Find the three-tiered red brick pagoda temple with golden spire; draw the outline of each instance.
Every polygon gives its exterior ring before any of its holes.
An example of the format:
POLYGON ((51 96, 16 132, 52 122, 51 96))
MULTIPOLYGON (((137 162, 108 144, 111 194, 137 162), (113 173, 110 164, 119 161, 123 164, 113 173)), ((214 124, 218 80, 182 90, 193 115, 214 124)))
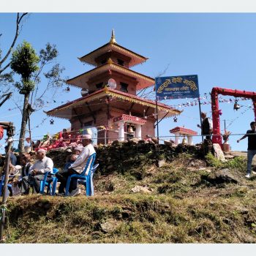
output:
POLYGON ((110 42, 78 58, 94 66, 67 80, 70 86, 79 87, 82 97, 49 110, 48 116, 69 119, 72 130, 97 128, 97 143, 109 143, 127 138, 154 136, 158 118, 181 113, 168 105, 138 97, 142 89, 154 86, 154 78, 130 69, 148 58, 128 50, 116 42, 114 31, 110 42))

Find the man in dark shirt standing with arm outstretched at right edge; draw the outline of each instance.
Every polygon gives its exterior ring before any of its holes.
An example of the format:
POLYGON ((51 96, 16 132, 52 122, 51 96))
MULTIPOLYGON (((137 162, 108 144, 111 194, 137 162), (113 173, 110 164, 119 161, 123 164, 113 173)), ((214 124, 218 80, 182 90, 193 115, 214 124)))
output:
POLYGON ((249 129, 246 132, 246 135, 244 135, 242 138, 237 140, 237 143, 240 142, 240 140, 244 140, 244 138, 248 137, 248 148, 247 148, 247 173, 246 178, 249 178, 252 173, 252 159, 256 154, 256 122, 252 121, 251 129, 249 129))

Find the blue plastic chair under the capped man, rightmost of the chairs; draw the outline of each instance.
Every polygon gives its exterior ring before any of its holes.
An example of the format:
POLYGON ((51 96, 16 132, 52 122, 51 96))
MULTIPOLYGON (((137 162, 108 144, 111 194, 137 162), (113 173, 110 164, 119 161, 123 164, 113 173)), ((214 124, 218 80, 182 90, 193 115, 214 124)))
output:
POLYGON ((72 174, 67 178, 67 185, 66 185, 66 191, 65 196, 69 195, 69 185, 71 178, 78 178, 79 180, 85 180, 86 181, 86 196, 91 195, 91 169, 94 165, 94 161, 96 158, 96 153, 91 154, 89 159, 86 162, 86 167, 83 169, 83 173, 80 174, 72 174))

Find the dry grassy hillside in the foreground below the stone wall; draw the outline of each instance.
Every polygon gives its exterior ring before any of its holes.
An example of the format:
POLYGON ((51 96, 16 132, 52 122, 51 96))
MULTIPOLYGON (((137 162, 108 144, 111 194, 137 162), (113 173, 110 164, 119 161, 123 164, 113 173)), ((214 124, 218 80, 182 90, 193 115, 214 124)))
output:
POLYGON ((255 243, 256 178, 245 160, 150 154, 98 172, 95 196, 9 198, 7 243, 255 243), (162 157, 166 159, 165 156, 162 157))

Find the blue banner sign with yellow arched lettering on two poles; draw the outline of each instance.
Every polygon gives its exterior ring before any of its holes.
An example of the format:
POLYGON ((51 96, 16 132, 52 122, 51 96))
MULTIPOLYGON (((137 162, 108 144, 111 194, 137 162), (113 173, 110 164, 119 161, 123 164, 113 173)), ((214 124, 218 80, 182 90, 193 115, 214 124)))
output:
POLYGON ((197 75, 159 77, 156 80, 157 99, 199 98, 197 75))

